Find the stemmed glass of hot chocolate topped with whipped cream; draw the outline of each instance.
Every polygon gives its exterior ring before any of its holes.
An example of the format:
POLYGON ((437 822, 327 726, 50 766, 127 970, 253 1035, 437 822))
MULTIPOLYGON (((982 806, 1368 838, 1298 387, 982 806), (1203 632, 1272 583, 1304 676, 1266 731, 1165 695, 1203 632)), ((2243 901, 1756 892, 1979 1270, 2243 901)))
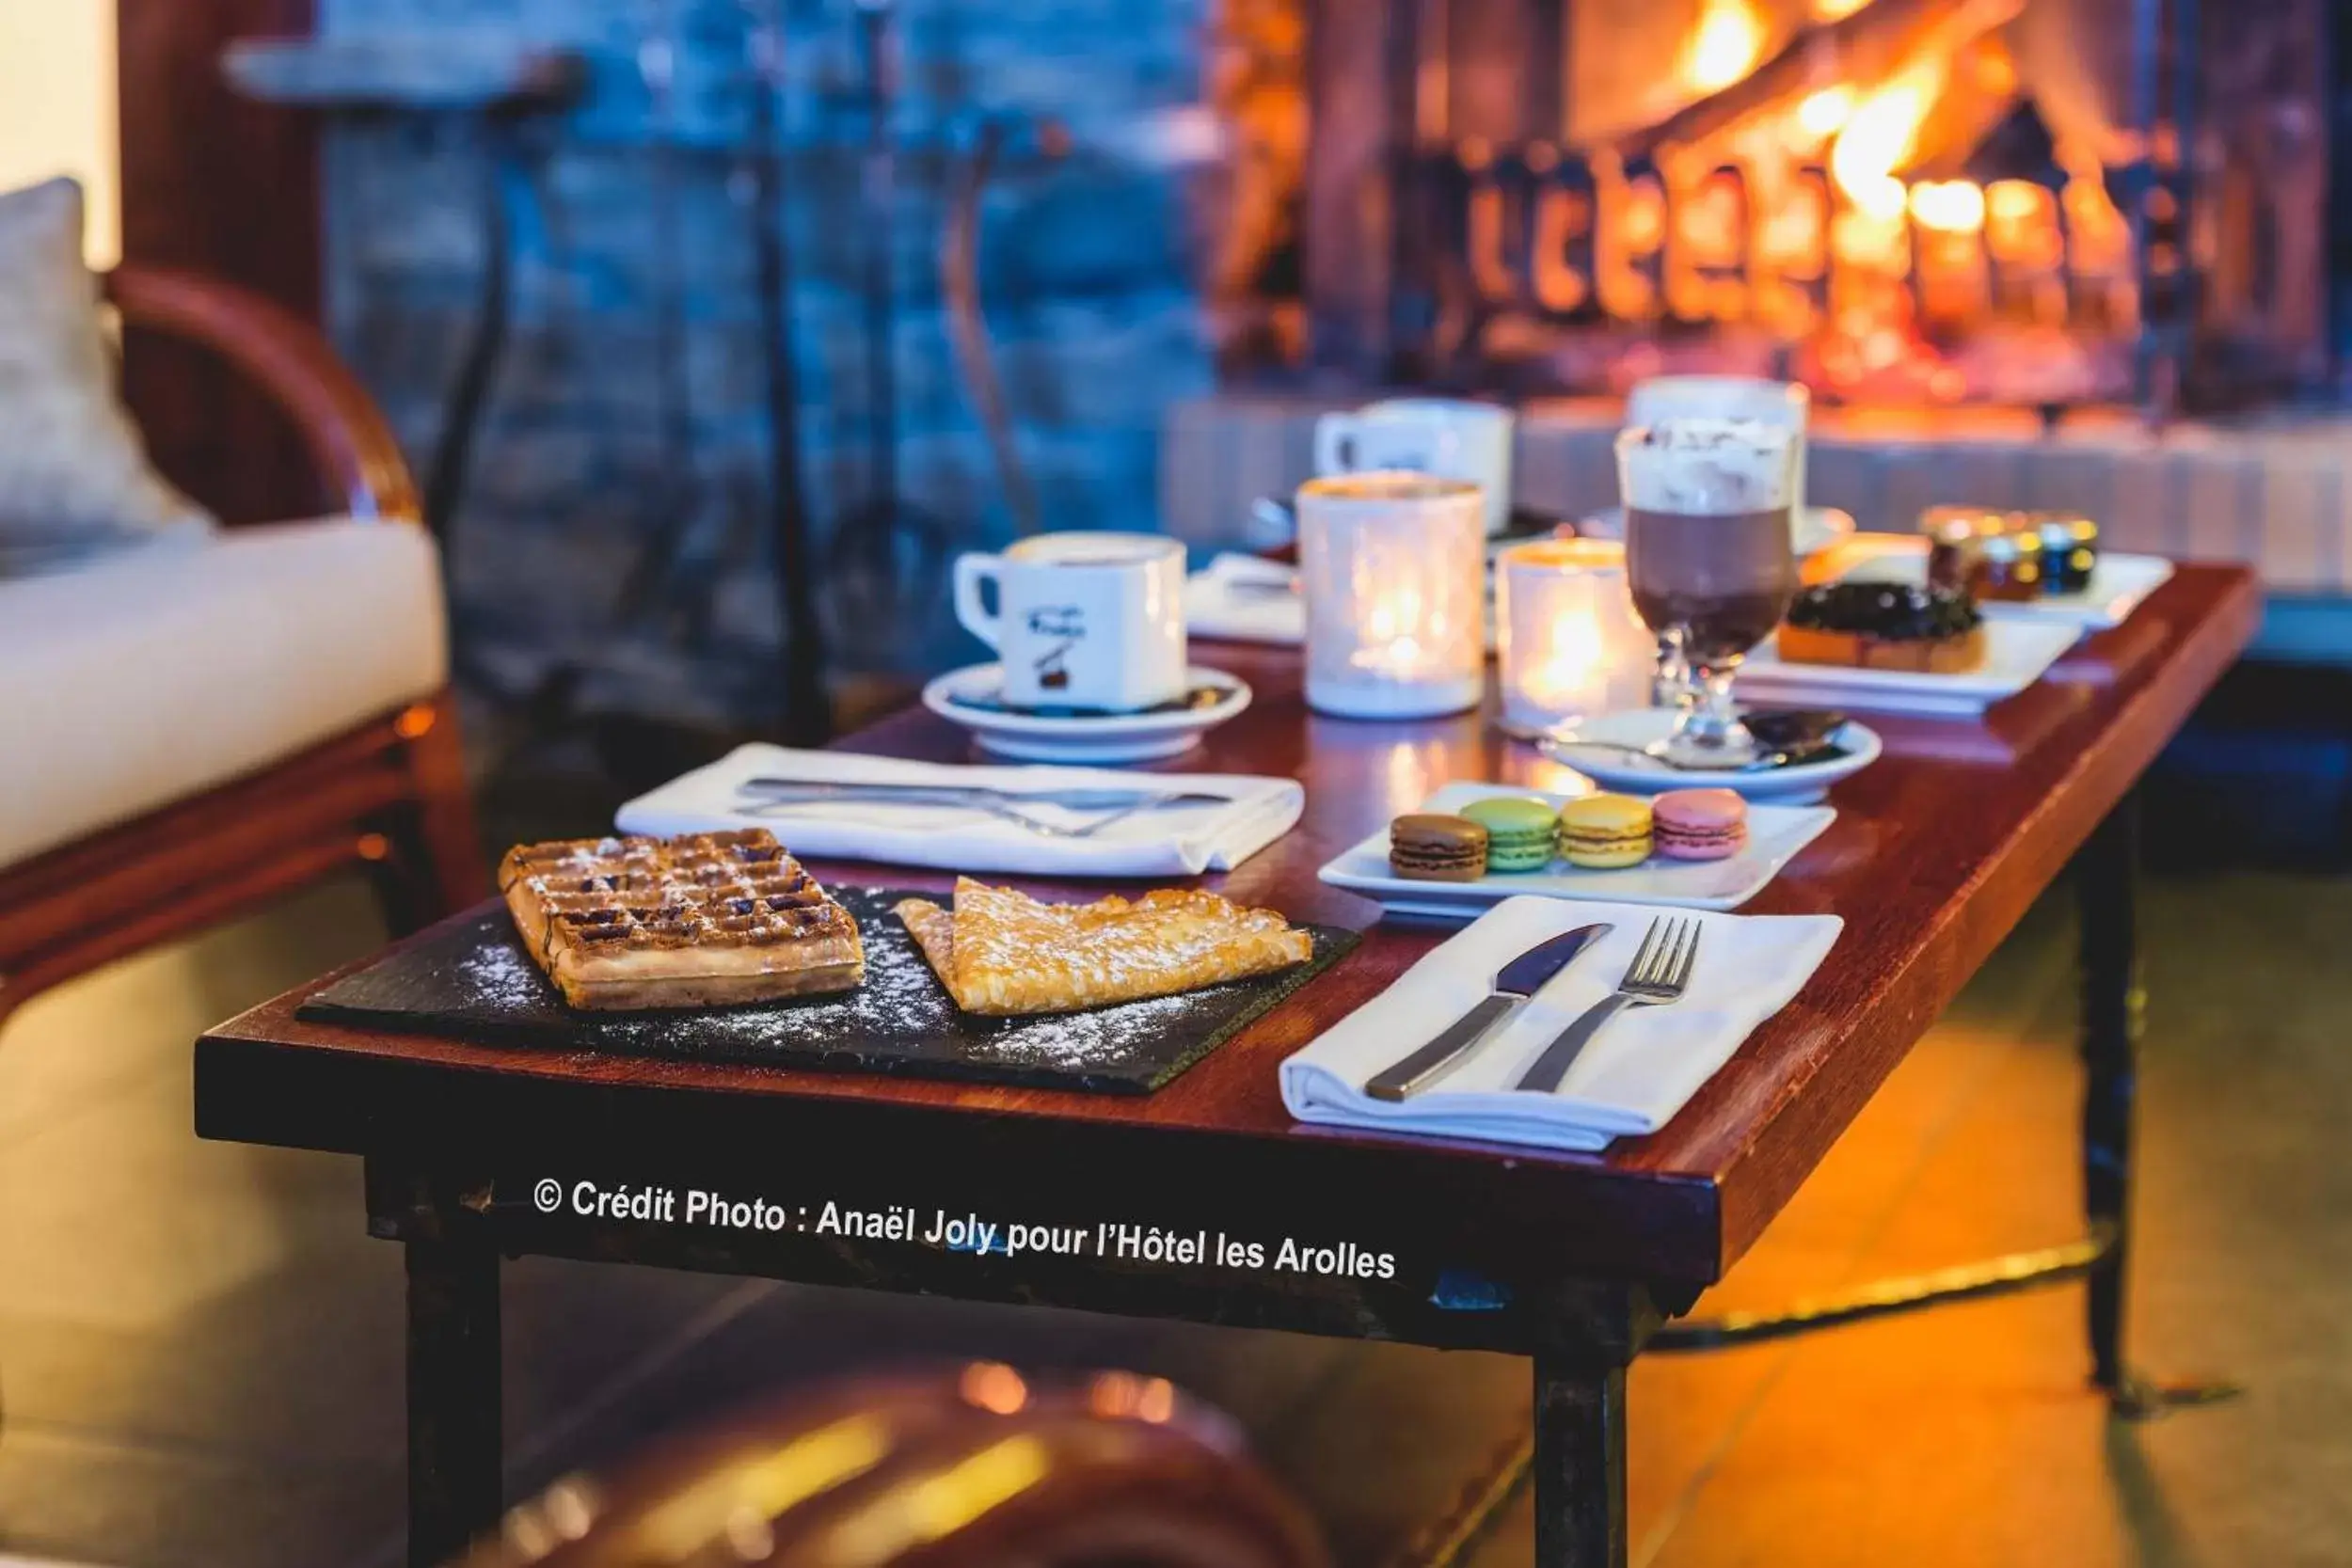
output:
POLYGON ((1797 595, 1799 449, 1795 430, 1755 418, 1661 418, 1618 435, 1632 602, 1698 682, 1663 745, 1682 766, 1736 769, 1759 755, 1731 677, 1797 595))

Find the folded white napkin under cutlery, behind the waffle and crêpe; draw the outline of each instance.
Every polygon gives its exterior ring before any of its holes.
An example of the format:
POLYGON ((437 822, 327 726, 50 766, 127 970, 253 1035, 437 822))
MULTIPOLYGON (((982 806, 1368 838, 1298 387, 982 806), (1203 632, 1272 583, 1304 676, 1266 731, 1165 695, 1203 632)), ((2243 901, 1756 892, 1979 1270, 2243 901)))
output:
MULTIPOLYGON (((1305 790, 1294 778, 1242 773, 1117 773, 1061 766, 950 766, 856 752, 739 745, 706 769, 673 778, 621 806, 621 832, 715 832, 769 827, 795 856, 936 865, 1028 877, 1195 877, 1232 870, 1298 820, 1305 790), (1138 811, 1089 839, 1051 839, 960 806, 906 802, 811 802, 755 816, 750 778, 804 783, 913 783, 988 790, 1197 790, 1223 804, 1138 811)), ((1082 827, 1101 811, 1023 806, 1047 823, 1082 827)))

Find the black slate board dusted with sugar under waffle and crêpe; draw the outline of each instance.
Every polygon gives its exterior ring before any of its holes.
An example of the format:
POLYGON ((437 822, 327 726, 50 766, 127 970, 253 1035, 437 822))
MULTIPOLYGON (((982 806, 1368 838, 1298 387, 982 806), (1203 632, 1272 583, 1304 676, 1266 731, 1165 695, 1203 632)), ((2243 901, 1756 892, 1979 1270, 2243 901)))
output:
POLYGON ((564 1006, 506 910, 343 976, 301 1018, 501 1046, 760 1063, 929 1079, 1150 1093, 1355 947, 1305 926, 1312 957, 1282 973, 1054 1018, 974 1018, 955 1006, 891 905, 910 893, 833 889, 866 936, 866 985, 729 1009, 588 1013, 564 1006))

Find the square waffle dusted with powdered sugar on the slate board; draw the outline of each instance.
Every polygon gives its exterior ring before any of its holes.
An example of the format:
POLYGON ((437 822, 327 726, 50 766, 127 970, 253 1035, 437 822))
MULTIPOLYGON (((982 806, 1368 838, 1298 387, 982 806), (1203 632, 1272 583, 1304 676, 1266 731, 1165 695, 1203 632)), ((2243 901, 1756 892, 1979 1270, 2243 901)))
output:
POLYGON ((499 891, 581 1009, 769 1001, 866 978, 858 922, 764 827, 517 844, 499 891))

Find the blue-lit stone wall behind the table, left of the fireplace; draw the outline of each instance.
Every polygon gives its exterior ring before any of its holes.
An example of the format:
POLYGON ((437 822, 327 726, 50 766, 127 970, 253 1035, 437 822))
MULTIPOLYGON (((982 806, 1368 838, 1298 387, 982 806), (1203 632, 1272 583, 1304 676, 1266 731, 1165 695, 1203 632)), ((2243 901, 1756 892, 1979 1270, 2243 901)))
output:
MULTIPOLYGON (((863 550, 856 12, 788 0, 793 322, 835 672, 917 672, 978 646, 941 578, 1011 517, 957 378, 936 275, 941 150, 978 110, 1047 115, 1075 155, 1018 160, 983 226, 1000 367, 1047 527, 1155 527, 1157 425, 1211 383, 1197 174, 1127 155, 1138 118, 1202 96, 1211 0, 903 0, 901 480, 924 527, 863 550), (891 562, 877 574, 861 562, 891 562)), ((506 160, 513 339, 454 520, 452 592, 477 682, 520 693, 572 668, 600 708, 757 719, 774 705, 767 421, 748 146, 757 85, 739 0, 320 0, 329 38, 456 49, 560 45, 590 89, 522 125, 506 160), (673 47, 673 92, 640 68, 673 47), (666 303, 668 301, 668 303, 666 303), (673 313, 675 336, 663 331, 673 313), (675 353, 666 353, 666 343, 675 353), (647 567, 649 541, 675 559, 647 567), (630 604, 635 592, 635 607, 630 604)), ((336 120, 327 146, 329 322, 423 468, 475 320, 487 190, 477 125, 336 120)))

